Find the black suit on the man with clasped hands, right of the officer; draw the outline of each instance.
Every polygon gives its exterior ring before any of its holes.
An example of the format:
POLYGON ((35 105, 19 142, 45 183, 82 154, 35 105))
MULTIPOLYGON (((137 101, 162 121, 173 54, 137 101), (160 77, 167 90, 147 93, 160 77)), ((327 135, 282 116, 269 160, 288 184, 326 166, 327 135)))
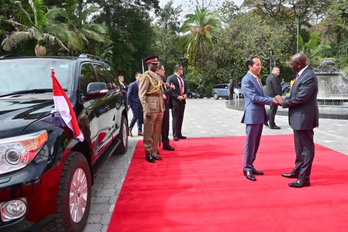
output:
MULTIPOLYGON (((188 95, 188 89, 186 85, 186 81, 183 77, 181 77, 182 81, 184 82, 183 87, 183 95, 188 95)), ((173 138, 179 138, 183 136, 181 134, 181 128, 183 126, 183 120, 184 120, 184 112, 185 112, 185 104, 186 100, 178 100, 178 97, 180 96, 180 83, 178 76, 176 74, 173 74, 167 78, 168 83, 172 83, 175 85, 175 90, 170 95, 170 101, 171 101, 171 116, 172 116, 172 129, 173 129, 173 138)))

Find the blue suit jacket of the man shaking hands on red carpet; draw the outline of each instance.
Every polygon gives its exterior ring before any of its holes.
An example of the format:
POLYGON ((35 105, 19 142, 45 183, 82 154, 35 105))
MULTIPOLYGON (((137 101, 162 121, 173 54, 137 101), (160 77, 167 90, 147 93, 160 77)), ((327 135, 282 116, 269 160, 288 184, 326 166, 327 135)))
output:
MULTIPOLYGON (((262 86, 261 80, 259 79, 262 86)), ((273 98, 265 96, 256 79, 247 73, 242 79, 242 92, 245 98, 242 123, 261 124, 268 121, 265 104, 272 105, 273 98)))

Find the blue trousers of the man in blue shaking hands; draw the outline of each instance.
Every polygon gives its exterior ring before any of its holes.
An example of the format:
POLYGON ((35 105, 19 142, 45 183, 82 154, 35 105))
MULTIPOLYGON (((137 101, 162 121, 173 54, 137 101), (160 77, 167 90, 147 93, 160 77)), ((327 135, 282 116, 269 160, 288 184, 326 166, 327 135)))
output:
POLYGON ((247 124, 245 132, 247 140, 245 141, 243 170, 251 171, 256 159, 256 153, 259 149, 263 124, 247 124))

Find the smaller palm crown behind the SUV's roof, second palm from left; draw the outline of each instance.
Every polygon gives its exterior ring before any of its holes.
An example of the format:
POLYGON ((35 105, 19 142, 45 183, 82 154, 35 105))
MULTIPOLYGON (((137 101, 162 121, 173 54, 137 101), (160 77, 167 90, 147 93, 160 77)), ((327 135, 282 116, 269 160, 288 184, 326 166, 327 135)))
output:
MULTIPOLYGON (((95 40, 97 42, 104 42, 105 35, 108 33, 108 27, 105 23, 86 23, 91 14, 99 12, 100 8, 90 6, 85 10, 82 6, 72 8, 72 11, 68 13, 70 22, 68 23, 71 30, 75 32, 86 44, 89 44, 89 40, 95 40)), ((73 44, 69 43, 68 47, 71 51, 76 50, 73 44)))

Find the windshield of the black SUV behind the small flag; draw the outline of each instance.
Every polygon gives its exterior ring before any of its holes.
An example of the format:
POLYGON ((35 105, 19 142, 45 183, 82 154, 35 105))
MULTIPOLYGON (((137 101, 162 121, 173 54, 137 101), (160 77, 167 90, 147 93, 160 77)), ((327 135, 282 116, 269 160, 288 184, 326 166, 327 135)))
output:
POLYGON ((73 61, 62 59, 0 61, 0 96, 23 90, 52 89, 50 68, 54 69, 54 76, 62 88, 69 90, 72 66, 73 61))

